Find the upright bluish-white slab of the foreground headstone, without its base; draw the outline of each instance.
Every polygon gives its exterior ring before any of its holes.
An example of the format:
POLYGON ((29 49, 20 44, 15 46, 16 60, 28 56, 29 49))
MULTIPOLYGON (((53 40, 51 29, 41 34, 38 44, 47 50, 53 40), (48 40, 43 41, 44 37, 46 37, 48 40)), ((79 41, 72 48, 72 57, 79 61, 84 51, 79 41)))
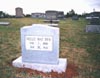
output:
POLYGON ((58 64, 59 28, 33 24, 21 28, 22 61, 58 64))

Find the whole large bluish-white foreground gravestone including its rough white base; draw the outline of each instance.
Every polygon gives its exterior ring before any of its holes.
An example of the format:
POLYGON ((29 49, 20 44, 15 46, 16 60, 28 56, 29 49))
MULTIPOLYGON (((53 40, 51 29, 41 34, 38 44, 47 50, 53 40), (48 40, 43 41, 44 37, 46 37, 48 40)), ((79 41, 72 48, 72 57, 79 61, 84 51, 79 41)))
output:
POLYGON ((43 72, 65 72, 67 60, 59 58, 59 28, 33 24, 21 28, 22 56, 13 66, 43 72))

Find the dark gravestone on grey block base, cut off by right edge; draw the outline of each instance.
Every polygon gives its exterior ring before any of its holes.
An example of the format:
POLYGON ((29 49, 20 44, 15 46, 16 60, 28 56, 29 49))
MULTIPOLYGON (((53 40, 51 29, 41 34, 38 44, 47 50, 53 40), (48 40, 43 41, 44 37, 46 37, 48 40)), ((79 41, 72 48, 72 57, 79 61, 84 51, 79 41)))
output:
POLYGON ((86 25, 86 32, 100 33, 100 18, 92 17, 89 25, 86 25))

